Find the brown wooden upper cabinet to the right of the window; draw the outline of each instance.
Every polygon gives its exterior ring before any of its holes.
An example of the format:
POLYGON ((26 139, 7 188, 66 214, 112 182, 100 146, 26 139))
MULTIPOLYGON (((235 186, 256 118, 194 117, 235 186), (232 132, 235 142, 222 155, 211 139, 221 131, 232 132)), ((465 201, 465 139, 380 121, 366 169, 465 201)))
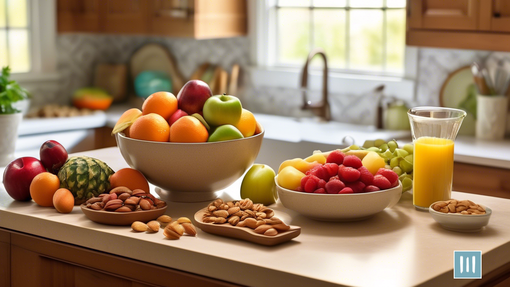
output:
POLYGON ((408 0, 406 43, 510 51, 510 0, 408 0))

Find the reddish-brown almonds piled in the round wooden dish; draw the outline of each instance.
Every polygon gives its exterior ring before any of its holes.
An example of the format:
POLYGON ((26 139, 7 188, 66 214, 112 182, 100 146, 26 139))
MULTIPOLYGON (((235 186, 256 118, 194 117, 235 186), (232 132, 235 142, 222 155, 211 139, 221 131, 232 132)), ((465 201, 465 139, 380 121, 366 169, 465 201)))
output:
POLYGON ((153 210, 166 206, 166 202, 145 193, 141 189, 130 190, 119 186, 113 188, 109 194, 101 194, 87 202, 87 208, 113 212, 131 212, 140 210, 153 210))

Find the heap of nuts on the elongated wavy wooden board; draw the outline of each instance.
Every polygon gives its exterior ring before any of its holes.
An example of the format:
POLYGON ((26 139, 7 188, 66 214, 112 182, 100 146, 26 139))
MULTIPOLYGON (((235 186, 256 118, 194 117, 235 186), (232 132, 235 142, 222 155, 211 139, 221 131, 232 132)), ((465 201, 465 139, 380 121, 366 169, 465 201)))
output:
POLYGON ((207 206, 203 222, 212 224, 227 223, 237 227, 249 227, 254 232, 274 236, 278 232, 290 229, 280 219, 274 217, 274 211, 263 204, 254 204, 250 199, 223 202, 217 199, 207 206))

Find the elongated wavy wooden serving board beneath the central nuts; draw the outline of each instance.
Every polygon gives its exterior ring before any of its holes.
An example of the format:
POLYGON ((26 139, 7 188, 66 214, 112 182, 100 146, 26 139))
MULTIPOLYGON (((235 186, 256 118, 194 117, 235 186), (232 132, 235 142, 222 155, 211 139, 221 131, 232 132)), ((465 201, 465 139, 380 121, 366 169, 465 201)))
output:
POLYGON ((237 227, 232 226, 230 223, 223 224, 212 224, 205 223, 202 221, 203 215, 206 213, 207 207, 198 210, 195 213, 195 226, 200 228, 202 231, 207 233, 216 234, 220 236, 233 237, 240 240, 245 240, 261 245, 273 246, 280 243, 284 243, 292 240, 301 233, 301 227, 290 226, 287 231, 280 231, 275 236, 267 236, 264 234, 258 234, 253 229, 248 227, 237 227))

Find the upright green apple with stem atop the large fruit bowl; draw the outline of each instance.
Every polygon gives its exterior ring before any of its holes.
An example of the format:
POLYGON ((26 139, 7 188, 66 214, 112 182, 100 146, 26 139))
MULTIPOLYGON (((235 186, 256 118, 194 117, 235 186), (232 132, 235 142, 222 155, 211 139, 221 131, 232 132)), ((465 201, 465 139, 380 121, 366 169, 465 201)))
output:
POLYGON ((241 101, 233 95, 215 95, 203 104, 203 118, 210 126, 234 126, 239 122, 242 111, 241 101))

